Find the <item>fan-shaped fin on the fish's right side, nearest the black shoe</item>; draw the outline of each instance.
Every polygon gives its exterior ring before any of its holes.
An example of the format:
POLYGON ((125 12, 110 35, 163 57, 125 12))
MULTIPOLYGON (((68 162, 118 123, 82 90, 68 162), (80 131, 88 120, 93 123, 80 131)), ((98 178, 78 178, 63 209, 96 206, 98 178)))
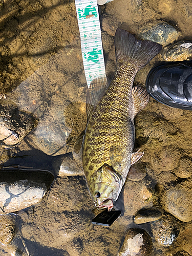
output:
POLYGON ((134 117, 145 108, 148 100, 150 99, 150 94, 142 87, 135 86, 132 89, 133 107, 134 107, 134 117))

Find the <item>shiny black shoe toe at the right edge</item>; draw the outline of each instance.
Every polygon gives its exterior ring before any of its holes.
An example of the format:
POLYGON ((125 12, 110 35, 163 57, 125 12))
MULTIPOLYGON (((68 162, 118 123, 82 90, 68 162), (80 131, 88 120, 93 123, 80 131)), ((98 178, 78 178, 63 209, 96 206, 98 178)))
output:
POLYGON ((165 105, 192 110, 192 62, 168 62, 153 68, 147 76, 146 89, 165 105))

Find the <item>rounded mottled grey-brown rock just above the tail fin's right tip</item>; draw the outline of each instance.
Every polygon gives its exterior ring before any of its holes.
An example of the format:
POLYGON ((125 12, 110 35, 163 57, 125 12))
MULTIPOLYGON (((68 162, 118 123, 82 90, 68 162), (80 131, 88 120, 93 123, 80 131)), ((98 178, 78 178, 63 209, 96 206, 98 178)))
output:
POLYGON ((140 28, 137 37, 158 42, 158 44, 162 46, 167 46, 177 40, 179 35, 180 33, 172 25, 158 21, 156 24, 147 23, 143 25, 140 28))

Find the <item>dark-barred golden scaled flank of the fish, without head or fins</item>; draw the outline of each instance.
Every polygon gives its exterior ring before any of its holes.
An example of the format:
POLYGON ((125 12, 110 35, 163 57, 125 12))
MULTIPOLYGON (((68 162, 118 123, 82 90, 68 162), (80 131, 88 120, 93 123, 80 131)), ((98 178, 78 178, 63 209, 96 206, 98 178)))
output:
MULTIPOLYGON (((133 138, 133 135, 131 135, 132 129, 129 131, 130 125, 127 125, 127 110, 133 108, 128 99, 131 97, 133 77, 137 73, 134 64, 130 65, 130 62, 126 61, 118 65, 108 92, 106 92, 91 117, 94 123, 88 123, 84 138, 84 152, 87 152, 85 165, 87 165, 86 169, 88 170, 95 172, 104 163, 111 164, 110 147, 112 143, 117 144, 118 147, 122 145, 123 153, 125 152, 128 155, 133 150, 133 143, 132 145, 127 144, 127 141, 130 141, 131 137, 133 138), (122 74, 124 79, 119 81, 122 74), (109 102, 113 103, 109 104, 109 102), (124 136, 122 130, 127 132, 124 136), (103 145, 104 148, 101 151, 103 145), (93 152, 95 153, 94 156, 90 156, 93 152), (95 164, 93 165, 93 163, 95 164)), ((133 122, 133 117, 130 121, 133 122)), ((128 159, 126 155, 125 158, 128 159)), ((87 172, 87 179, 90 179, 91 175, 92 173, 87 172)), ((126 176, 126 174, 123 176, 126 176)))

